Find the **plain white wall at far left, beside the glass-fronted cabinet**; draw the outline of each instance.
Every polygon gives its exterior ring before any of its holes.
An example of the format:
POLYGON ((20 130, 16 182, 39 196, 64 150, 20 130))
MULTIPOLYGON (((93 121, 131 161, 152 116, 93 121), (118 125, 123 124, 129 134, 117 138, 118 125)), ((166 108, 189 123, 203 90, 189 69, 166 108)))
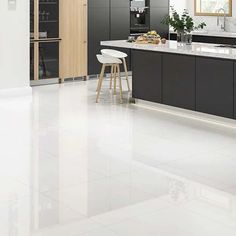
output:
POLYGON ((0 90, 29 87, 29 0, 0 0, 0 90))

